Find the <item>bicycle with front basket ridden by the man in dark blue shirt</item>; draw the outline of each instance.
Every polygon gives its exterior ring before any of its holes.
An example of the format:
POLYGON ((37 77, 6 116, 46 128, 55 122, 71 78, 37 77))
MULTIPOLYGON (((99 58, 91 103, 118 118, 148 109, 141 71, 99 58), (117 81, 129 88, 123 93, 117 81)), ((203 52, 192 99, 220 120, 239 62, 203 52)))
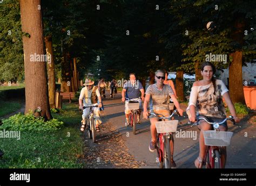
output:
POLYGON ((125 98, 128 103, 128 109, 131 110, 131 114, 129 117, 129 124, 125 124, 125 126, 131 125, 133 128, 133 134, 136 135, 136 124, 137 124, 137 116, 139 114, 139 102, 131 101, 129 98, 125 98))

